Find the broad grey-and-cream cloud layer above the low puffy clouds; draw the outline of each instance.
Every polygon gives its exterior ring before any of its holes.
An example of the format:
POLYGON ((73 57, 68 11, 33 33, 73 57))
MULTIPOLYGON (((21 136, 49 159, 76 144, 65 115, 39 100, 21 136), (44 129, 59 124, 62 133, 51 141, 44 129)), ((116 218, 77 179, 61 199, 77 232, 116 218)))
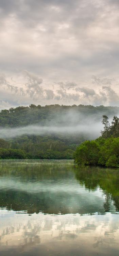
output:
POLYGON ((117 72, 115 3, 1 0, 2 70, 40 71, 42 77, 57 80, 117 72))

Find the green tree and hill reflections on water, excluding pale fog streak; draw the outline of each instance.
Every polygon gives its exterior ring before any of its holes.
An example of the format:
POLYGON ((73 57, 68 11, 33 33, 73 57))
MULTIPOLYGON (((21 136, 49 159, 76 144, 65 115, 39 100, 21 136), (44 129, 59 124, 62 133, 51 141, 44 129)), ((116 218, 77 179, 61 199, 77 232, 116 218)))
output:
MULTIPOLYGON (((69 162, 70 163, 70 162, 69 162)), ((26 211, 29 214, 43 212, 44 214, 93 214, 95 212, 105 213, 110 211, 111 202, 114 203, 116 211, 119 211, 119 171, 114 169, 77 167, 72 164, 63 164, 62 161, 57 164, 55 161, 51 164, 41 164, 37 162, 18 163, 5 162, 0 163, 0 177, 7 180, 19 181, 21 187, 2 189, 0 192, 0 207, 16 212, 26 211), (68 191, 62 190, 56 193, 50 191, 30 191, 32 187, 40 187, 42 182, 55 187, 57 181, 67 186, 68 191), (47 183, 48 182, 48 183, 47 183), (73 193, 73 184, 85 186, 87 191, 96 191, 102 189, 105 195, 104 204, 102 201, 96 201, 98 198, 92 194, 92 201, 88 201, 86 194, 73 193), (29 184, 29 191, 27 185, 29 184), (32 187, 31 185, 32 184, 32 187), (22 190, 20 189, 22 188, 22 190), (70 190, 71 188, 71 190, 70 190)), ((16 183, 17 184, 17 183, 16 183)), ((42 183, 43 184, 43 183, 42 183)), ((49 185, 48 185, 49 186, 49 185)), ((79 187, 79 186, 78 186, 79 187)), ((60 189, 60 186, 59 186, 60 189)), ((90 194, 91 195, 91 194, 90 194)))

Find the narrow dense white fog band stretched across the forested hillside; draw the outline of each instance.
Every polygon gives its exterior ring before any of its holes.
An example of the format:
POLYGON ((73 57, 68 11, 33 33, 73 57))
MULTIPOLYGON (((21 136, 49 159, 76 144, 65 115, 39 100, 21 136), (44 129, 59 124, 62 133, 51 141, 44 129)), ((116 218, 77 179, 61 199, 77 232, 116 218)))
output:
POLYGON ((40 126, 29 125, 17 128, 1 128, 0 138, 15 138, 23 134, 27 135, 49 135, 49 134, 87 134, 89 138, 95 139, 100 136, 100 131, 103 128, 101 123, 77 125, 77 126, 40 126))

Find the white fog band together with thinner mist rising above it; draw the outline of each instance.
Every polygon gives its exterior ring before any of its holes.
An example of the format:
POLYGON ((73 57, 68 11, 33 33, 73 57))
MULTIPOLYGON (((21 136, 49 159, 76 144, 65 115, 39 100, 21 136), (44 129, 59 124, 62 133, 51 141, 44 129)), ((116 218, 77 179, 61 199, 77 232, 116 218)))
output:
MULTIPOLYGON (((106 114, 106 113, 103 113, 106 114)), ((115 113, 114 113, 115 114, 115 113)), ((114 114, 110 113, 109 123, 112 122, 114 114)), ((27 116, 26 116, 27 117, 27 116)), ((24 116, 24 118, 26 118, 24 116)), ((62 135, 66 136, 71 134, 71 136, 81 136, 86 135, 88 139, 96 139, 101 136, 101 130, 103 130, 102 125, 102 113, 92 112, 81 113, 75 109, 65 110, 61 112, 47 113, 47 118, 39 118, 39 124, 31 124, 28 126, 20 126, 13 128, 0 128, 0 138, 9 139, 18 136, 26 135, 62 135)))

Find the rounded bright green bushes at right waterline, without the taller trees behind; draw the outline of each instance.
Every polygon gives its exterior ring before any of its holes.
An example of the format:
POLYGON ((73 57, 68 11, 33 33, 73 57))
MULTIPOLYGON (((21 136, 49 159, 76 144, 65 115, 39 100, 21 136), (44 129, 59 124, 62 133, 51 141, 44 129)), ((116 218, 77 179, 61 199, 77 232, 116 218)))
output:
POLYGON ((119 137, 86 141, 77 147, 74 159, 79 165, 119 167, 119 137))

